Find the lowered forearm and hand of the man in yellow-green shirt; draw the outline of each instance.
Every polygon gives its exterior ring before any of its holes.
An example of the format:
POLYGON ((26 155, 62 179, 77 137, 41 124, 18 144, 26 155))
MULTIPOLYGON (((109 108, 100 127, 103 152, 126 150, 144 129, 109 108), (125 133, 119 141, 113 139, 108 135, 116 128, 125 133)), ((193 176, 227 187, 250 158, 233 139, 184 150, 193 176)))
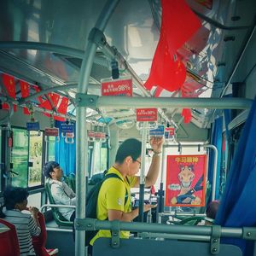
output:
MULTIPOLYGON (((150 209, 156 207, 157 205, 144 205, 144 212, 148 212, 150 209)), ((132 210, 131 212, 122 212, 119 210, 108 210, 108 220, 119 220, 131 222, 134 218, 138 216, 138 208, 132 210)))

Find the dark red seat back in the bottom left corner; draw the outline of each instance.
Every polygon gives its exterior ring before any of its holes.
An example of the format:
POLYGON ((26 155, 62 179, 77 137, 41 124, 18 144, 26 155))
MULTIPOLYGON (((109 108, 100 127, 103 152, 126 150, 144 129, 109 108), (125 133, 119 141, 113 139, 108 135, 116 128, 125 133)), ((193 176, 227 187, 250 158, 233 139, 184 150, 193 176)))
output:
POLYGON ((15 225, 0 218, 0 223, 7 226, 9 230, 0 233, 0 252, 4 256, 19 256, 20 246, 15 225))

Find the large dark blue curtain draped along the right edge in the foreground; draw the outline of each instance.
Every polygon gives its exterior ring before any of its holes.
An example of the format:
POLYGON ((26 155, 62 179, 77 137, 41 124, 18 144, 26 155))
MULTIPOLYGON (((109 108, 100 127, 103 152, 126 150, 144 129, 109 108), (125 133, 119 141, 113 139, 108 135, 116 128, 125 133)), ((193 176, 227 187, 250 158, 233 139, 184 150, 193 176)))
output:
MULTIPOLYGON (((216 224, 225 227, 256 225, 256 98, 247 117, 231 163, 216 224)), ((229 239, 241 247, 243 255, 253 255, 253 241, 229 239)))

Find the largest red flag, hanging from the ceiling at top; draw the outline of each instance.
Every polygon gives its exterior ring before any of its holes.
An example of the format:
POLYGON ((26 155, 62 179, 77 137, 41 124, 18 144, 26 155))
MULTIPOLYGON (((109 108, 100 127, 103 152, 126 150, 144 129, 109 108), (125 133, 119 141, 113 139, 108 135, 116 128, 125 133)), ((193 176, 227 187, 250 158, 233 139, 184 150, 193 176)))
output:
POLYGON ((158 85, 166 90, 179 89, 186 79, 186 68, 177 57, 180 48, 201 26, 200 20, 184 0, 161 0, 160 41, 154 53, 147 89, 158 85))

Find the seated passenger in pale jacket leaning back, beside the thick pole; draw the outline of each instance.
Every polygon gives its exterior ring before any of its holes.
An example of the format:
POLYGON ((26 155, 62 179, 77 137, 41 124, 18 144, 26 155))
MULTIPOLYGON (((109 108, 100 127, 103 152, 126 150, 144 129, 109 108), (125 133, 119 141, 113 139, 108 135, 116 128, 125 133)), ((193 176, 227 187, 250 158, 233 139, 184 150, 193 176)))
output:
MULTIPOLYGON (((55 161, 49 161, 44 165, 43 172, 47 177, 50 186, 50 192, 57 205, 76 205, 76 194, 67 183, 62 181, 63 172, 61 166, 55 161)), ((62 216, 69 221, 75 218, 75 210, 73 208, 59 208, 62 216)))

